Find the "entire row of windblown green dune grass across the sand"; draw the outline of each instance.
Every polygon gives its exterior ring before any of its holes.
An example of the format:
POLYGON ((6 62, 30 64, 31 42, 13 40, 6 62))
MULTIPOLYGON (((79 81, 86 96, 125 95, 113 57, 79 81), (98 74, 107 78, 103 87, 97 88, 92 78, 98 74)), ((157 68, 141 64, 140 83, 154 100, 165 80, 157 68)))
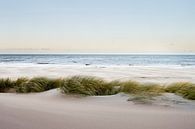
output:
POLYGON ((195 100, 195 84, 178 82, 169 85, 138 83, 135 81, 105 81, 90 76, 73 76, 63 79, 36 77, 32 79, 18 78, 17 80, 0 79, 0 92, 17 93, 43 92, 60 88, 65 94, 80 95, 113 95, 119 92, 136 96, 158 96, 162 93, 175 93, 186 99, 195 100))

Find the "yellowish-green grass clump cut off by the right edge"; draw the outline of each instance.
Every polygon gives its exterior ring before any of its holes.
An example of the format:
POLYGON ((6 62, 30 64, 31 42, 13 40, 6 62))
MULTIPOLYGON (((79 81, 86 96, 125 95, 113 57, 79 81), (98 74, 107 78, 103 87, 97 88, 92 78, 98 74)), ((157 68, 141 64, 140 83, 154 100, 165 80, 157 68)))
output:
POLYGON ((195 84, 188 82, 173 83, 166 87, 166 92, 175 93, 186 99, 195 100, 195 84))

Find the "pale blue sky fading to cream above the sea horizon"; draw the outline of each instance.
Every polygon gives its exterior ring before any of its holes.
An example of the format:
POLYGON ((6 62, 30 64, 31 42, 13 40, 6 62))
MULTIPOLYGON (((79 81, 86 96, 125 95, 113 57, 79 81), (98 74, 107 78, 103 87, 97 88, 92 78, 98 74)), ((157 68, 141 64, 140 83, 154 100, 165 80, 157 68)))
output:
POLYGON ((1 0, 0 51, 195 53, 195 1, 1 0))

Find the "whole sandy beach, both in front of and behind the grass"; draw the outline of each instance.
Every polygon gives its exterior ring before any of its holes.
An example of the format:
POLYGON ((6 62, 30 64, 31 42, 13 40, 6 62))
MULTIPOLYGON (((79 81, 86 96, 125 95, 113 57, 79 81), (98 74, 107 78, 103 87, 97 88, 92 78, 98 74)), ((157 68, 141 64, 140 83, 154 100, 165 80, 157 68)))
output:
MULTIPOLYGON (((0 64, 0 78, 66 78, 95 76, 106 81, 133 80, 170 84, 195 82, 195 67, 62 64, 0 64)), ((193 129, 195 101, 165 93, 152 104, 128 101, 131 96, 0 93, 0 129, 193 129)))

